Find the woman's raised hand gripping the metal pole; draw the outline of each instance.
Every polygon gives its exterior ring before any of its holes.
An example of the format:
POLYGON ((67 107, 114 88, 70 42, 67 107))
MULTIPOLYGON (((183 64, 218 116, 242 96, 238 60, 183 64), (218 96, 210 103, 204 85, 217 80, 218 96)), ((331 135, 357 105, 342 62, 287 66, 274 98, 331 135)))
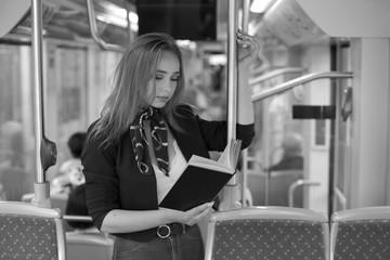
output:
POLYGON ((258 57, 260 41, 255 36, 250 36, 242 29, 237 31, 238 43, 238 66, 246 69, 258 57))

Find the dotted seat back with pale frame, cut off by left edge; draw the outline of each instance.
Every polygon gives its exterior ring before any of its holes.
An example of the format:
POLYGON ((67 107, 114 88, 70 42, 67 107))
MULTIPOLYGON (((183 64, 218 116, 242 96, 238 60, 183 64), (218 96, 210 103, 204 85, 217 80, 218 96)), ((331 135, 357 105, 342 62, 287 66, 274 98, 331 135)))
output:
POLYGON ((0 259, 65 260, 62 214, 22 202, 0 202, 0 259))

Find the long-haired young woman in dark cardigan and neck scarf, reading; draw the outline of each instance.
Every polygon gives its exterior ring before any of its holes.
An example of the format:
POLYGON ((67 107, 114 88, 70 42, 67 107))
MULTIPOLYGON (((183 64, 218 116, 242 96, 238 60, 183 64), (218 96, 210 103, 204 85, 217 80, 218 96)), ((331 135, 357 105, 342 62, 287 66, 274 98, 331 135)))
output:
MULTIPOLYGON (((248 67, 259 42, 243 31, 238 42, 236 136, 253 136, 248 67)), ((116 236, 114 259, 204 259, 198 225, 212 203, 187 211, 158 207, 192 155, 226 145, 225 121, 200 119, 179 104, 184 89, 182 54, 166 34, 136 38, 126 50, 101 118, 88 130, 81 160, 87 205, 94 224, 116 236)), ((207 184, 207 180, 205 180, 207 184)))

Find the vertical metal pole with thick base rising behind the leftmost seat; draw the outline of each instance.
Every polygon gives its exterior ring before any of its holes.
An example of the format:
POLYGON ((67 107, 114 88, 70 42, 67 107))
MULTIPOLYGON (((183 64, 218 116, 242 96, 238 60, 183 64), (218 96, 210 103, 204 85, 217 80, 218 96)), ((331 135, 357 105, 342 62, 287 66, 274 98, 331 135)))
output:
POLYGON ((31 27, 32 27, 32 78, 35 98, 35 146, 36 146, 36 178, 34 183, 35 198, 32 204, 42 207, 51 207, 49 183, 46 182, 44 171, 41 164, 41 136, 43 135, 43 108, 42 108, 42 1, 31 0, 31 27))

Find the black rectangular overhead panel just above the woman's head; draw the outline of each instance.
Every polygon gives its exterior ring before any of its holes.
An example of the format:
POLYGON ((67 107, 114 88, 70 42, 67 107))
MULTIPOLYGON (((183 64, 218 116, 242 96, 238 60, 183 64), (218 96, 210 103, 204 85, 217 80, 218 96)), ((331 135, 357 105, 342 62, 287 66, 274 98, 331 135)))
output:
POLYGON ((160 31, 176 39, 216 40, 216 0, 139 0, 139 35, 160 31))

